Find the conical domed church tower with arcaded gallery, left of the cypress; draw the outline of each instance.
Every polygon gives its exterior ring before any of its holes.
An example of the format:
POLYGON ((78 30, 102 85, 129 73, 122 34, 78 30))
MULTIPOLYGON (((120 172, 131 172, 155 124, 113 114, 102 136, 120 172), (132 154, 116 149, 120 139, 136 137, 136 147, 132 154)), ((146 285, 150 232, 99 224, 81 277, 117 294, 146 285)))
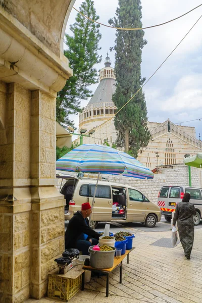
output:
POLYGON ((117 132, 113 122, 116 106, 112 102, 112 95, 116 89, 115 83, 114 69, 111 67, 111 61, 107 54, 105 67, 99 73, 99 85, 88 105, 79 114, 79 132, 82 128, 87 129, 87 131, 92 128, 96 129, 91 137, 83 137, 83 143, 102 144, 104 140, 111 143, 116 141, 117 132), (103 123, 105 124, 102 125, 103 123))

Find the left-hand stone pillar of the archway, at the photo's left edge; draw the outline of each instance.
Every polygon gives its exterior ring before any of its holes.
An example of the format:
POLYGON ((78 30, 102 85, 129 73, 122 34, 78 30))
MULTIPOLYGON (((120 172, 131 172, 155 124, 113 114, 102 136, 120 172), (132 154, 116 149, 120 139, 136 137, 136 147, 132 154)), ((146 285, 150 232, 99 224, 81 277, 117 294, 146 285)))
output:
POLYGON ((14 83, 1 88, 0 301, 13 302, 29 296, 31 92, 14 83))

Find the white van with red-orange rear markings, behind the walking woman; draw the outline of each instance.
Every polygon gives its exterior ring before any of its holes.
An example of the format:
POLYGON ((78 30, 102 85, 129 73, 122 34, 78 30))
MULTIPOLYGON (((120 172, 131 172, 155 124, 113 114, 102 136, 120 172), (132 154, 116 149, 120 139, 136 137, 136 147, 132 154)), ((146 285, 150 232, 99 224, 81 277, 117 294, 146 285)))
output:
POLYGON ((161 208, 162 215, 170 222, 172 212, 175 211, 176 205, 182 201, 184 193, 191 195, 190 203, 194 204, 196 215, 193 218, 194 224, 200 223, 202 219, 202 189, 188 186, 163 186, 158 195, 157 205, 161 208))

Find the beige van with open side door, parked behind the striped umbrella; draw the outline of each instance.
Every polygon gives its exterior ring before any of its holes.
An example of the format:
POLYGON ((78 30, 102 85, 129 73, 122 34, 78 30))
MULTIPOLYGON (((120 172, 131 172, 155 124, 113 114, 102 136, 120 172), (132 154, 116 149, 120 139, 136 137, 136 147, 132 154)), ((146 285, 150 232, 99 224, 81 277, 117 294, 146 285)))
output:
MULTIPOLYGON (((65 195, 65 220, 81 210, 81 204, 92 203, 96 179, 62 177, 67 179, 61 189, 65 195)), ((92 226, 98 222, 141 222, 146 227, 154 227, 161 220, 160 208, 150 202, 136 188, 99 180, 95 195, 95 203, 91 217, 92 226)))

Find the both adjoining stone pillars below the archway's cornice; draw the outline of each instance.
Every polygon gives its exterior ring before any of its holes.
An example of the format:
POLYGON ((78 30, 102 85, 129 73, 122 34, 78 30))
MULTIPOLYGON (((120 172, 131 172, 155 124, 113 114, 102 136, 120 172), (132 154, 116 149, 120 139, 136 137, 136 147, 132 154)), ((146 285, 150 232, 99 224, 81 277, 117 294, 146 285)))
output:
POLYGON ((64 251, 56 105, 47 93, 17 83, 1 82, 0 94, 6 108, 0 117, 0 302, 23 302, 46 293, 48 272, 64 251))

